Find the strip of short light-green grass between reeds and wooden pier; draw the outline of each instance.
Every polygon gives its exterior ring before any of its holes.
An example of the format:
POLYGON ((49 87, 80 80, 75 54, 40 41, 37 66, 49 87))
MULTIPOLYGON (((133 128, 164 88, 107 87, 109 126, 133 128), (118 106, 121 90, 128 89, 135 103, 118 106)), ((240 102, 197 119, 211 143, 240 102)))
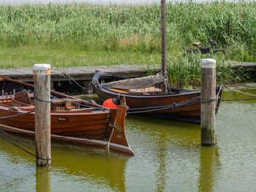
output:
POLYGON ((0 70, 1 68, 31 67, 34 64, 50 64, 55 67, 118 64, 151 66, 160 62, 160 55, 156 53, 83 50, 77 47, 0 47, 0 70))

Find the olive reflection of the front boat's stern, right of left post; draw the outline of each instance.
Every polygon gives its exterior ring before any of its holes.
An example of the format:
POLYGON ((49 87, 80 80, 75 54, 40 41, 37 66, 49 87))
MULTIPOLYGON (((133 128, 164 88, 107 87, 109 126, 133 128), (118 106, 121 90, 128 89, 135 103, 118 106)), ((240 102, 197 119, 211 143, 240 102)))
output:
POLYGON ((125 191, 124 173, 129 156, 108 153, 97 147, 56 145, 56 149, 52 166, 58 174, 77 176, 74 179, 111 191, 125 191))

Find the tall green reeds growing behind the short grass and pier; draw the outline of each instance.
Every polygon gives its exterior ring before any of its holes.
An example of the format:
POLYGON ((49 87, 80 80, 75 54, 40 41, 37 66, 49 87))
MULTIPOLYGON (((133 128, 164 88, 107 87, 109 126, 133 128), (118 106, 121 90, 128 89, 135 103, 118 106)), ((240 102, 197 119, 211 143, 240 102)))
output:
MULTIPOLYGON (((0 47, 75 47, 139 53, 161 52, 158 5, 90 4, 0 7, 0 47)), ((170 79, 198 82, 198 58, 182 57, 182 47, 211 38, 233 61, 256 61, 256 3, 167 4, 170 79)), ((0 58, 1 59, 1 58, 0 58)), ((96 58, 97 59, 97 58, 96 58)))

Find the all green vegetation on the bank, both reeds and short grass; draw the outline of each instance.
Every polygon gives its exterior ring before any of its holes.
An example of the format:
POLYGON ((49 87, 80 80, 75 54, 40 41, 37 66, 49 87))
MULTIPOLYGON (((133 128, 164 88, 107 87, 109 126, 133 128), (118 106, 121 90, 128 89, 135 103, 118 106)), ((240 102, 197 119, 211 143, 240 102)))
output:
MULTIPOLYGON (((161 62, 159 5, 89 4, 0 7, 1 68, 161 62)), ((256 3, 167 4, 167 69, 173 85, 197 85, 200 55, 182 47, 207 38, 226 50, 230 61, 256 61, 256 3)), ((206 55, 206 57, 209 55, 206 55)), ((217 58, 219 82, 246 79, 217 58), (224 72, 225 71, 225 72, 224 72)))

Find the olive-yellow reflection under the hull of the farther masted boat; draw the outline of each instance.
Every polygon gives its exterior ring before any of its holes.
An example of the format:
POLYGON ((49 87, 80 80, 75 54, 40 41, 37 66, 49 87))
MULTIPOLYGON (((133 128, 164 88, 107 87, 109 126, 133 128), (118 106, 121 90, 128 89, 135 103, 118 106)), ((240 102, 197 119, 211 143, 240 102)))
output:
POLYGON ((165 145, 162 142, 171 142, 182 147, 200 145, 200 124, 197 123, 129 115, 127 127, 129 131, 135 130, 137 134, 143 135, 142 137, 153 137, 154 142, 160 146, 165 145))

